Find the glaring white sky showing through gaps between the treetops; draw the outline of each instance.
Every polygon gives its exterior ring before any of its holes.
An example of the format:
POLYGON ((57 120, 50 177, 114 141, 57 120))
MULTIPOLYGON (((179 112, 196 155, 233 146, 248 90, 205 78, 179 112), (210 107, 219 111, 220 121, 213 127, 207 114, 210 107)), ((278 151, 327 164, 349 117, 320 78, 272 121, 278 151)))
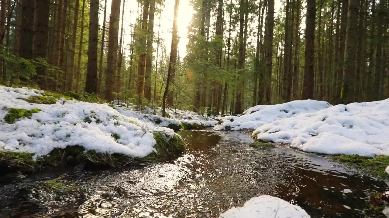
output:
MULTIPOLYGON (((107 0, 107 22, 109 21, 110 11, 111 11, 111 1, 107 0)), ((173 27, 173 14, 174 14, 174 3, 175 0, 165 0, 165 4, 162 7, 161 11, 161 29, 160 29, 160 38, 164 40, 166 46, 166 52, 170 52, 170 44, 172 42, 172 27, 173 27)), ((103 0, 100 0, 100 4, 104 4, 103 0)), ((123 0, 121 0, 121 5, 123 6, 123 0)), ((122 9, 121 6, 121 9, 122 9)), ((156 5, 156 7, 160 7, 156 5)), ((279 12, 281 7, 281 0, 275 0, 275 15, 279 12)), ((128 45, 131 42, 130 34, 130 25, 135 23, 135 18, 137 16, 138 2, 137 0, 126 0, 124 8, 124 45, 128 45)), ((102 12, 102 11, 101 11, 102 12)), ((122 12, 120 12, 122 13, 122 12)), ((142 10, 139 9, 138 13, 142 13, 142 10)), ((187 26, 190 24, 194 10, 190 5, 188 0, 180 0, 179 4, 179 14, 178 14, 178 35, 180 37, 179 41, 179 54, 180 57, 184 57, 186 54, 186 44, 188 43, 187 38, 187 26)), ((139 16, 139 15, 138 15, 139 16)), ((103 15, 100 14, 100 24, 103 23, 103 15)), ((154 17, 154 33, 155 37, 158 36, 158 24, 159 24, 159 14, 156 14, 154 17)), ((121 24, 119 24, 119 28, 121 24)), ((120 37, 120 36, 119 36, 120 37)), ((255 37, 256 38, 256 37, 255 37)), ((156 48, 156 44, 154 45, 156 48)), ((127 53, 128 54, 128 53, 127 53)), ((126 55, 127 55, 126 54, 126 55)))

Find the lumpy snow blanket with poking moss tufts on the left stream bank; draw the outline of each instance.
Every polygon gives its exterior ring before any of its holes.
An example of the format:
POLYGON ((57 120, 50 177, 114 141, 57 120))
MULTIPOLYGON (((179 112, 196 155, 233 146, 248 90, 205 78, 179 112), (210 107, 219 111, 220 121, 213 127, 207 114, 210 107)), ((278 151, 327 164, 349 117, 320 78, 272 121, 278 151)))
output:
POLYGON ((62 99, 47 105, 23 100, 42 93, 0 86, 0 151, 29 152, 37 157, 54 148, 81 145, 87 151, 142 158, 155 151, 153 132, 163 132, 168 137, 175 134, 172 129, 123 116, 106 104, 62 99), (33 113, 30 119, 20 118, 9 124, 4 121, 7 108, 42 111, 33 113))

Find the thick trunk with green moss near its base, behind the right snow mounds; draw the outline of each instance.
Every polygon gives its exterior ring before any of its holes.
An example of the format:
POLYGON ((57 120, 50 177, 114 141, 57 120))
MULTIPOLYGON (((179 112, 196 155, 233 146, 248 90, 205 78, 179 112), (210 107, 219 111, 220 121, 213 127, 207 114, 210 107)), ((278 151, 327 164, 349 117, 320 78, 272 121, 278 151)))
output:
POLYGON ((344 80, 342 87, 343 104, 348 104, 352 102, 354 98, 353 78, 355 75, 356 47, 358 35, 358 0, 349 0, 349 8, 347 14, 347 31, 343 67, 344 80))

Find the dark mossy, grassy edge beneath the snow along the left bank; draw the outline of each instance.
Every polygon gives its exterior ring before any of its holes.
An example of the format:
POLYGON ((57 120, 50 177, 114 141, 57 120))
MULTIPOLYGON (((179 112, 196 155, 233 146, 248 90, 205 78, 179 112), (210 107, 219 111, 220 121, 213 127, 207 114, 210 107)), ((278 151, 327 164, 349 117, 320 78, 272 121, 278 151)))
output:
POLYGON ((172 156, 182 154, 186 151, 186 144, 179 135, 167 137, 162 133, 154 133, 156 152, 152 152, 143 158, 133 158, 123 154, 99 153, 96 151, 85 151, 82 146, 67 146, 64 149, 55 148, 48 155, 33 158, 34 154, 26 152, 4 152, 0 151, 0 175, 20 171, 21 173, 32 173, 47 167, 65 167, 83 165, 90 167, 123 167, 130 163, 156 162, 166 160, 172 156))

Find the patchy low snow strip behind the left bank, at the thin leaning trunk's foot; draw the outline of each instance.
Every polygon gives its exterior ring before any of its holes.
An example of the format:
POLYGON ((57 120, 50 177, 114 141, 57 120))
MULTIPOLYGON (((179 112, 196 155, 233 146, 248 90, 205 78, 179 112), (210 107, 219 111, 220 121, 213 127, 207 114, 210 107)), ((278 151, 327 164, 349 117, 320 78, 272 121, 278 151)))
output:
POLYGON ((193 111, 166 108, 167 116, 163 118, 161 112, 162 108, 160 107, 156 107, 155 109, 143 107, 142 111, 138 111, 139 109, 135 108, 137 106, 133 104, 126 105, 123 104, 123 102, 118 102, 117 100, 115 101, 115 104, 117 106, 114 106, 114 108, 120 114, 135 117, 146 122, 155 123, 158 126, 169 126, 170 124, 179 125, 180 123, 188 125, 196 124, 199 126, 215 126, 218 122, 215 119, 201 116, 193 111))

